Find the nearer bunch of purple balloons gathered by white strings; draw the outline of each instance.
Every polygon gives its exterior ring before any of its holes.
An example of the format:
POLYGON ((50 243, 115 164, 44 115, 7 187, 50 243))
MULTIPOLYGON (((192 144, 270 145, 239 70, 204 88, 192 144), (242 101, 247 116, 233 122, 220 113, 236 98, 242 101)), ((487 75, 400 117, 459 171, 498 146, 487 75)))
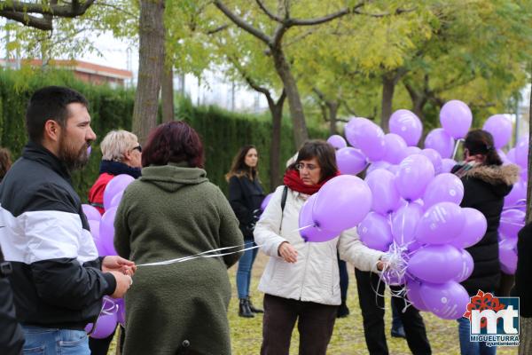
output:
POLYGON ((369 248, 395 253, 405 267, 383 272, 388 284, 406 285, 406 295, 420 310, 442 319, 458 319, 469 296, 459 282, 473 272, 464 250, 486 233, 486 218, 461 208, 461 180, 436 174, 434 161, 419 152, 403 159, 398 170, 372 170, 365 181, 372 191, 372 211, 358 225, 369 248))

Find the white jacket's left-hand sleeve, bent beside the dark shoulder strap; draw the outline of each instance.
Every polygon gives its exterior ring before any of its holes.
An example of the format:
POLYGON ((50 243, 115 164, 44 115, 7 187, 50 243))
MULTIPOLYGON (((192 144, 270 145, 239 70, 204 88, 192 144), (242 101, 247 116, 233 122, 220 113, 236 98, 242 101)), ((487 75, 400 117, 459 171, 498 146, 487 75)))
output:
POLYGON ((284 188, 285 186, 279 186, 273 193, 268 206, 262 212, 261 219, 254 227, 254 241, 261 246, 262 252, 268 256, 280 257, 278 255, 279 245, 286 241, 279 235, 282 222, 281 199, 284 188))

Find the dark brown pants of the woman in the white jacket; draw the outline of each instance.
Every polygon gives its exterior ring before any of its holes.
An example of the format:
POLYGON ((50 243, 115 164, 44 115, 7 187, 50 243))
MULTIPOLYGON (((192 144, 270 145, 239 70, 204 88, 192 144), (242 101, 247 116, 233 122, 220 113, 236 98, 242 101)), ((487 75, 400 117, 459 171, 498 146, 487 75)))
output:
POLYGON ((336 320, 337 305, 315 304, 264 295, 262 355, 288 355, 298 320, 300 355, 325 355, 336 320))

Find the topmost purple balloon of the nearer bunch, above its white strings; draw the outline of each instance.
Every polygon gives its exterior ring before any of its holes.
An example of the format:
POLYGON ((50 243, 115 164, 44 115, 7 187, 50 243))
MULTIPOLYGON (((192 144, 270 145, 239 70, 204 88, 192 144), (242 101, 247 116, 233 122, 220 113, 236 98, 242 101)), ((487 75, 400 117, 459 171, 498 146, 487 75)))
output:
POLYGON ((412 154, 399 165, 395 175, 397 190, 407 201, 415 201, 425 193, 426 185, 434 177, 434 165, 425 155, 412 154))

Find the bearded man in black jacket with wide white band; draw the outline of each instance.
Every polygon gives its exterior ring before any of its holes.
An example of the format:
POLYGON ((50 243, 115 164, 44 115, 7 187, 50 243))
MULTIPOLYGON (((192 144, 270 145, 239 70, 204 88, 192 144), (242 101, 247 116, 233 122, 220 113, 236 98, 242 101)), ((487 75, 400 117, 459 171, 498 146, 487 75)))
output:
POLYGON ((24 351, 90 354, 83 328, 102 297, 121 297, 135 264, 98 257, 71 171, 88 161, 96 139, 88 102, 79 92, 46 87, 27 106, 29 143, 0 185, 0 245, 12 264, 24 351))

